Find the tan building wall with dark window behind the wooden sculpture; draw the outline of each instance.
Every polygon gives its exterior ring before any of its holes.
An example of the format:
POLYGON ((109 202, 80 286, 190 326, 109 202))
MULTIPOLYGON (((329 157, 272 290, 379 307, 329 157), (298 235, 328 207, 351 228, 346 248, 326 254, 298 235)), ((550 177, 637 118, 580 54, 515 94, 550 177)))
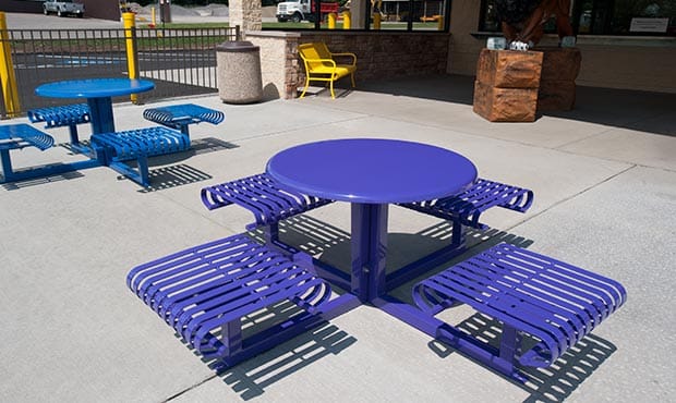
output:
MULTIPOLYGON (((473 75, 487 37, 500 35, 497 24, 491 25, 491 2, 454 0, 448 73, 473 75)), ((577 84, 676 93, 675 13, 673 0, 574 1, 572 25, 582 53, 577 84), (617 9, 621 4, 632 7, 627 12, 617 9)), ((551 34, 540 45, 557 44, 551 34)))

